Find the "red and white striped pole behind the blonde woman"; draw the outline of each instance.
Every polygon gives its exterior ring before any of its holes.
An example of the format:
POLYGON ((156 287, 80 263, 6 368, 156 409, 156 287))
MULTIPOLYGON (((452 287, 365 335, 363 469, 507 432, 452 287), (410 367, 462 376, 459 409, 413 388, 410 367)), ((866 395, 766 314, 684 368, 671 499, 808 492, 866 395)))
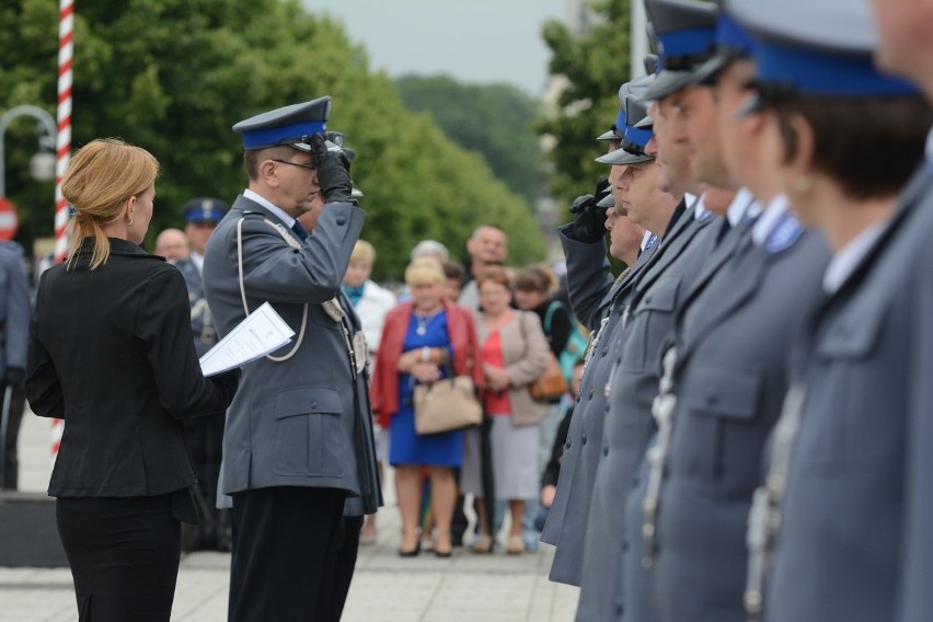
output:
MULTIPOLYGON (((71 80, 74 55, 74 0, 59 0, 58 5, 58 133, 55 139, 55 261, 68 252, 68 203, 61 196, 61 177, 71 157, 71 80)), ((65 421, 51 421, 51 460, 58 457, 65 421)))

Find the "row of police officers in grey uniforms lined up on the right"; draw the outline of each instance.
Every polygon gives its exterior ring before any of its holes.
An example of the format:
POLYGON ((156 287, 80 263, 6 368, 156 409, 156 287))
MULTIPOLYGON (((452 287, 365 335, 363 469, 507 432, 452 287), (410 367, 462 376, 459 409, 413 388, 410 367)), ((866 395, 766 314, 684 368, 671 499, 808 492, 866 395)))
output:
POLYGON ((551 578, 579 621, 933 620, 933 3, 645 4, 561 229, 595 336, 551 578))

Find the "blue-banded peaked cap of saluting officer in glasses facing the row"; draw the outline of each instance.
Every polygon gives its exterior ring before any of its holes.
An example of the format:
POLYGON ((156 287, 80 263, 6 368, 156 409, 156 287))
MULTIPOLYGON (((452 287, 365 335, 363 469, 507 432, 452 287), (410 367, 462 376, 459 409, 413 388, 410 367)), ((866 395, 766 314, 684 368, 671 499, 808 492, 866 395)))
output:
POLYGON ((288 145, 301 151, 311 150, 311 137, 326 129, 331 97, 323 96, 276 108, 241 120, 233 126, 243 138, 246 150, 288 145))

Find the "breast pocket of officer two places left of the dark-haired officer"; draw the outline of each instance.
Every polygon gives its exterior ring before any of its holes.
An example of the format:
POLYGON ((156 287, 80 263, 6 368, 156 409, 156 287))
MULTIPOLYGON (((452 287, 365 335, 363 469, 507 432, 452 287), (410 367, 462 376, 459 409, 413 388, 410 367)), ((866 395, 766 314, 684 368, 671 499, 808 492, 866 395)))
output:
POLYGON ((660 345, 673 327, 680 277, 661 278, 635 306, 626 327, 622 365, 632 371, 657 370, 660 345))

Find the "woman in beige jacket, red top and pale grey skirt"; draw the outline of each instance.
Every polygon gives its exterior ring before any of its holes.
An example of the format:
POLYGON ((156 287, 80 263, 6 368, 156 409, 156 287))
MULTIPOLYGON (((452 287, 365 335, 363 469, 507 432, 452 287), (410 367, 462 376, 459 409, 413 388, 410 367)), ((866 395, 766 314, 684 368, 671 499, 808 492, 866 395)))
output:
MULTIPOLYGON (((527 499, 538 496, 538 426, 548 414, 548 404, 534 402, 528 385, 548 367, 550 347, 541 320, 531 311, 511 309, 511 287, 505 268, 485 268, 476 279, 483 311, 476 315, 476 333, 483 376, 486 379, 484 407, 492 419, 489 442, 494 487, 498 499, 508 500, 511 531, 506 552, 525 551, 521 516, 527 499)), ((475 430, 473 430, 475 433, 475 430)), ((482 525, 476 553, 493 549, 493 534, 482 503, 482 466, 479 434, 471 434, 463 463, 463 492, 475 495, 482 525)))

